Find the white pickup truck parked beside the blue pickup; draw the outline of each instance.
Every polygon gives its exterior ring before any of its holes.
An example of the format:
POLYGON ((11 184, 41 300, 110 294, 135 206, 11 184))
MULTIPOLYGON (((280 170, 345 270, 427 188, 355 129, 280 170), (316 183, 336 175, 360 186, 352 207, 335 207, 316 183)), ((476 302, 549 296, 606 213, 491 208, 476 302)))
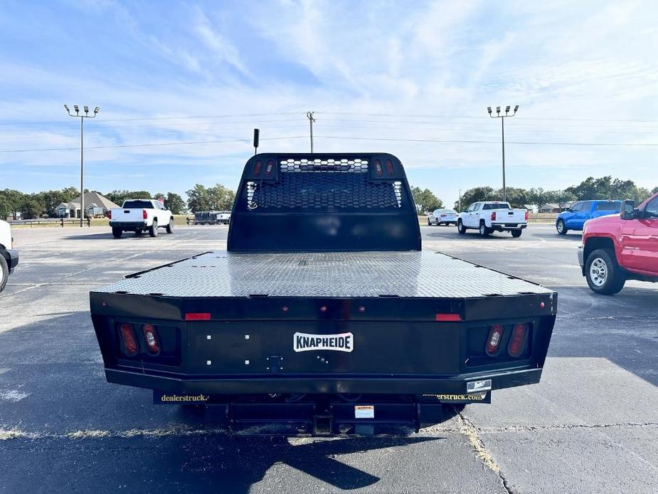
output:
POLYGON ((466 233, 468 228, 477 229, 483 237, 492 231, 509 231, 514 238, 528 226, 528 210, 512 209, 499 201, 474 202, 457 219, 457 231, 466 233))

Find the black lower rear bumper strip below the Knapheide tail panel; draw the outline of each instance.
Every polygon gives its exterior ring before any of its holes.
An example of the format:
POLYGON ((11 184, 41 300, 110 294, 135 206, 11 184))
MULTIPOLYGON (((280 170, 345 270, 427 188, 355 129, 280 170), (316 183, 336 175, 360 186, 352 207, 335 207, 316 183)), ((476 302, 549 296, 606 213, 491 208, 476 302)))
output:
POLYGON ((467 382, 492 380, 492 389, 536 384, 541 369, 497 370, 457 377, 254 377, 192 378, 142 374, 141 370, 105 369, 107 382, 176 394, 465 394, 467 382))

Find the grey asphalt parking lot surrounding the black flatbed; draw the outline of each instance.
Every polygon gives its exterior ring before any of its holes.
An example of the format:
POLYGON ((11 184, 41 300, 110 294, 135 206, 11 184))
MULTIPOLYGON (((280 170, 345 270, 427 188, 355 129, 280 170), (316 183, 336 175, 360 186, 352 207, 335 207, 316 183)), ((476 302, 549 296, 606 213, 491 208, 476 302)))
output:
POLYGON ((541 384, 407 438, 229 436, 149 391, 107 384, 88 292, 225 248, 225 226, 157 238, 108 228, 15 229, 21 264, 0 295, 0 491, 658 492, 658 285, 595 295, 578 233, 521 238, 423 226, 423 247, 558 291, 541 384))

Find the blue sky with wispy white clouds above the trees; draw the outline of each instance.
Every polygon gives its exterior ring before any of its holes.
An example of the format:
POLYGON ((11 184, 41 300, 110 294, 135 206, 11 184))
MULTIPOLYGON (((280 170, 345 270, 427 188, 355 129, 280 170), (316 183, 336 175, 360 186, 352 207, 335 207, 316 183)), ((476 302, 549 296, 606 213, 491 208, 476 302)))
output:
POLYGON ((653 188, 657 18, 651 1, 5 0, 0 189, 79 184, 63 103, 101 107, 85 127, 100 191, 235 188, 250 129, 261 151, 305 152, 313 110, 316 151, 392 152, 452 204, 500 186, 486 107, 507 104, 509 186, 653 188))

